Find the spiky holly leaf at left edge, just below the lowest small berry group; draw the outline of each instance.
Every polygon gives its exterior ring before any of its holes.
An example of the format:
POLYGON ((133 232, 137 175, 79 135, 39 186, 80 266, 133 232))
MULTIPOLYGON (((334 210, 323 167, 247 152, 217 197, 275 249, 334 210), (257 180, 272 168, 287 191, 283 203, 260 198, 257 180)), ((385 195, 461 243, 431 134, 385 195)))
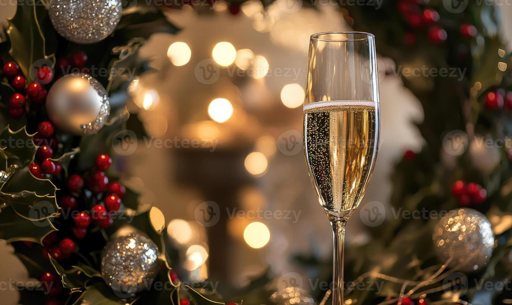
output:
POLYGON ((28 167, 11 168, 7 181, 0 187, 0 197, 18 215, 29 220, 58 216, 59 206, 55 197, 57 188, 52 181, 32 176, 28 167))

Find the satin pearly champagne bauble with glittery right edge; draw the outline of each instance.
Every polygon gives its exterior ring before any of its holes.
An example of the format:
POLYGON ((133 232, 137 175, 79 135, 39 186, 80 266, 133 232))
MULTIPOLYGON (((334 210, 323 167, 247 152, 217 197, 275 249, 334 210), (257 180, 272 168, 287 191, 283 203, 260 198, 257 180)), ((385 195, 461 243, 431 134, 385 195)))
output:
POLYGON ((62 131, 75 135, 95 134, 110 114, 109 97, 91 75, 68 74, 50 88, 46 111, 62 131))

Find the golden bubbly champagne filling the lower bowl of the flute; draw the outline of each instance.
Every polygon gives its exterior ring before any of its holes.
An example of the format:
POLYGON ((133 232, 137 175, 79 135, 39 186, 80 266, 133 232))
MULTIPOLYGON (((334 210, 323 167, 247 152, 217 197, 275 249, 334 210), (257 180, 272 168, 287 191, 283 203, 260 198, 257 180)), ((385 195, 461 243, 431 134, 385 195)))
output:
POLYGON ((309 176, 320 204, 336 217, 352 215, 370 181, 379 138, 377 105, 327 101, 304 107, 309 176))

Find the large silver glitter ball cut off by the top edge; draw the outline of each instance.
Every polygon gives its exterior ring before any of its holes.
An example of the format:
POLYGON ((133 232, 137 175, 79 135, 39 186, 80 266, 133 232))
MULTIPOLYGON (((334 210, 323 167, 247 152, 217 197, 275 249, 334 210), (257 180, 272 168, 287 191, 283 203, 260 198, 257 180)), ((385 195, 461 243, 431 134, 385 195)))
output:
POLYGON ((94 44, 109 36, 121 18, 122 0, 51 0, 48 13, 62 37, 94 44))

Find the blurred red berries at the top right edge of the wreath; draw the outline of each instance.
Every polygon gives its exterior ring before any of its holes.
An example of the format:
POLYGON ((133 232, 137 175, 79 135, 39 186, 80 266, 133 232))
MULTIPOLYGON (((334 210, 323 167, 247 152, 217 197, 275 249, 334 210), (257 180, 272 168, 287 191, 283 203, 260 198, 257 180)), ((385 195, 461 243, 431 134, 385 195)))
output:
MULTIPOLYGON (((426 34, 432 44, 443 43, 448 35, 438 25, 439 13, 433 8, 422 8, 422 4, 422 0, 400 0, 397 8, 411 28, 428 28, 426 34)), ((459 28, 459 33, 464 38, 474 38, 477 35, 477 29, 471 24, 462 24, 459 28)), ((411 46, 415 42, 416 37, 413 33, 405 35, 404 43, 406 45, 411 46)))

